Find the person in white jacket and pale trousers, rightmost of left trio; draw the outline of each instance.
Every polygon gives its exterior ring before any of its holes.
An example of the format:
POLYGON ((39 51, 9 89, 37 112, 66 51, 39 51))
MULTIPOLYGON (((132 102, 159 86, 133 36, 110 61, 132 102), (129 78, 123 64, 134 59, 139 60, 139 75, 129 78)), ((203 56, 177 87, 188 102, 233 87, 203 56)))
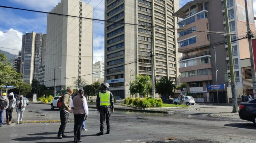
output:
POLYGON ((26 109, 26 101, 23 100, 23 95, 20 96, 19 101, 16 101, 17 124, 22 121, 23 112, 26 109))

